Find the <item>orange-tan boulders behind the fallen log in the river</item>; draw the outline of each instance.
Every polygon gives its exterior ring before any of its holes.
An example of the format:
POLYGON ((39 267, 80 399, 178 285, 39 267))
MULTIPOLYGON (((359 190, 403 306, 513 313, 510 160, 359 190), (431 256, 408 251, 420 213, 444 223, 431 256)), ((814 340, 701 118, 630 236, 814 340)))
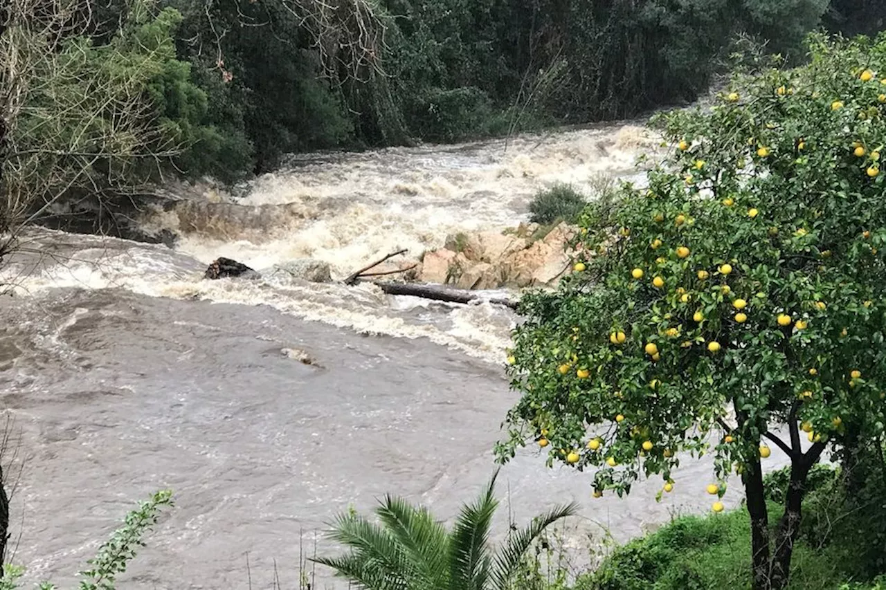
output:
POLYGON ((569 269, 566 245, 574 228, 561 223, 540 238, 538 231, 532 224, 508 234, 449 236, 446 248, 425 252, 420 280, 461 289, 552 285, 569 269))

